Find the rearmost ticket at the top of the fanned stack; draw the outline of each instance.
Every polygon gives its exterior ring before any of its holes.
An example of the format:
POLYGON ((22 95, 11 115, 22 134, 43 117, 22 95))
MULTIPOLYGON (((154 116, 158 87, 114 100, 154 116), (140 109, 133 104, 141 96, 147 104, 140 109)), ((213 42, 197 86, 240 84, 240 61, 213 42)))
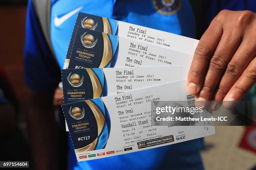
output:
POLYGON ((67 59, 70 59, 71 48, 73 47, 74 37, 77 33, 76 31, 78 27, 118 35, 119 37, 126 37, 130 40, 138 40, 140 42, 164 47, 170 50, 176 50, 189 55, 193 55, 193 52, 195 51, 195 48, 199 42, 198 40, 169 32, 155 30, 152 28, 125 23, 96 15, 79 13, 74 25, 71 40, 69 42, 67 59))

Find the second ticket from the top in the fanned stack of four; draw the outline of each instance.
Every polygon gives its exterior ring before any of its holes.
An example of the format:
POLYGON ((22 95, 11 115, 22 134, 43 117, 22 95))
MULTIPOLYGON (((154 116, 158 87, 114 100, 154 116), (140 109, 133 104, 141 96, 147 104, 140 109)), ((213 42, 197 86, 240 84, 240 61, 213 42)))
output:
POLYGON ((192 55, 138 40, 77 27, 67 68, 190 65, 192 55))

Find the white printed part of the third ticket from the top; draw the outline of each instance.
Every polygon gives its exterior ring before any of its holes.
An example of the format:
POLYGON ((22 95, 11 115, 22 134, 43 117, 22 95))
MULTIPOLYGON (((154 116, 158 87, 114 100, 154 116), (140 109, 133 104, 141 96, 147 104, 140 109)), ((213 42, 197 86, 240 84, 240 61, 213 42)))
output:
POLYGON ((103 68, 108 95, 186 80, 189 66, 103 68))

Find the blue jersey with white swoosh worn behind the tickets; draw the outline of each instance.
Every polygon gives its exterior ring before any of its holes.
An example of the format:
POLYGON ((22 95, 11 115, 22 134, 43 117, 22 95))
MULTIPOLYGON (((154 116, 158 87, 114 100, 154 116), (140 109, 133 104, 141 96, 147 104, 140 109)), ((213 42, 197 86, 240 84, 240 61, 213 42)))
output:
MULTIPOLYGON (((224 1, 228 2, 228 0, 224 1)), ((214 4, 214 2, 219 1, 212 0, 209 3, 214 4)), ((237 0, 237 2, 242 3, 243 0, 237 0)), ((218 5, 213 5, 207 10, 209 14, 205 16, 206 25, 219 10, 218 5)), ((79 11, 187 37, 195 38, 196 35, 195 18, 189 0, 52 0, 50 35, 56 56, 54 57, 35 16, 32 2, 29 0, 24 58, 25 80, 31 89, 40 92, 54 91, 61 81, 60 68, 64 65, 69 40, 79 11)), ((78 163, 70 142, 69 169, 198 170, 203 168, 199 153, 202 144, 202 139, 197 139, 78 163)))

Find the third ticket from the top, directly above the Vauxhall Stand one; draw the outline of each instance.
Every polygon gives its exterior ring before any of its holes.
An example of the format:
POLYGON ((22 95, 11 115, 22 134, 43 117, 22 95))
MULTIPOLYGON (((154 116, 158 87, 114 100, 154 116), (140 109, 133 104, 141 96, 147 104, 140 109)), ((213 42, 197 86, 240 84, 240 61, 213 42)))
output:
POLYGON ((185 80, 189 66, 64 69, 64 103, 185 80))

